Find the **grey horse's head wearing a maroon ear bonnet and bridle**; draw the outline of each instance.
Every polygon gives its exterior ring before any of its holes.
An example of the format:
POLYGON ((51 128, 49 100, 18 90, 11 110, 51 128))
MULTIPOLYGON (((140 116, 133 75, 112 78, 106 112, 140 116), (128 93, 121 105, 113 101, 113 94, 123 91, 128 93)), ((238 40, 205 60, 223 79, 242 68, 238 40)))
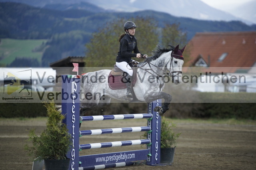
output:
POLYGON ((172 76, 172 82, 174 84, 179 84, 181 82, 182 78, 182 65, 184 63, 184 58, 182 53, 184 52, 186 45, 183 47, 183 49, 179 49, 179 45, 177 45, 172 51, 171 54, 171 63, 170 63, 170 68, 169 71, 172 76))

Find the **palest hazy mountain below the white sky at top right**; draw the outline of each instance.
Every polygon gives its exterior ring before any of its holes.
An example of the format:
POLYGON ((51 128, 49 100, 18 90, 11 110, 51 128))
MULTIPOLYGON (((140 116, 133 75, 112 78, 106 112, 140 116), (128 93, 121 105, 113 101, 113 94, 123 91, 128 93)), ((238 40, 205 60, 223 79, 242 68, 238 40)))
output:
MULTIPOLYGON (((227 12, 212 8, 201 0, 84 0, 92 4, 98 5, 106 10, 135 12, 140 10, 154 10, 158 12, 166 12, 178 17, 188 17, 198 20, 214 20, 214 21, 243 21, 252 24, 251 21, 245 20, 227 12)), ((246 11, 248 12, 248 11, 246 11)), ((254 12, 249 12, 255 14, 254 12)))

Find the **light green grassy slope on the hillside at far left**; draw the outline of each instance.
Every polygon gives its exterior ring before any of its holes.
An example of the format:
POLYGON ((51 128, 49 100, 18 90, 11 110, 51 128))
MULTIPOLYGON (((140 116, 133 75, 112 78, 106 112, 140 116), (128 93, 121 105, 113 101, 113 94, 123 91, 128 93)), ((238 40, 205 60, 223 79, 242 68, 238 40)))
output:
POLYGON ((33 49, 46 41, 46 39, 1 39, 0 64, 6 66, 16 57, 35 58, 41 63, 42 52, 33 52, 33 49))

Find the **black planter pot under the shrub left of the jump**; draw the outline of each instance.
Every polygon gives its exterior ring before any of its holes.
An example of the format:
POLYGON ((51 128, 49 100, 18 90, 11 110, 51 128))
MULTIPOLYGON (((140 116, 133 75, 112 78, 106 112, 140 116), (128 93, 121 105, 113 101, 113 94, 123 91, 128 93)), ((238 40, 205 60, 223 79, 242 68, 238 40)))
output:
POLYGON ((70 159, 45 159, 45 170, 68 170, 70 159))

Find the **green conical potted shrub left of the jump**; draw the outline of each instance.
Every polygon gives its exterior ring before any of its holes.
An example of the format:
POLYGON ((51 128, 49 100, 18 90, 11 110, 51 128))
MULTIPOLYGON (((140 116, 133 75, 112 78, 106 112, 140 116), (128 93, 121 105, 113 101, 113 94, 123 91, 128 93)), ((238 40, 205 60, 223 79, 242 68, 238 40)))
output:
POLYGON ((62 120, 62 115, 55 107, 53 101, 44 103, 47 109, 46 129, 37 136, 34 130, 29 131, 28 141, 32 141, 32 146, 25 146, 29 154, 38 160, 66 159, 66 153, 72 144, 71 136, 62 120))

